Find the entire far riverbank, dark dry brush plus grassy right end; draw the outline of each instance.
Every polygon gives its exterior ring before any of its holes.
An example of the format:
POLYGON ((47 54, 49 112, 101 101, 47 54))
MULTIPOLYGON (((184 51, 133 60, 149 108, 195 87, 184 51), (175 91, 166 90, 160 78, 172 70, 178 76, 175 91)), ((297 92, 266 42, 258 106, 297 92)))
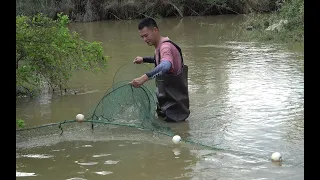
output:
POLYGON ((53 19, 57 18, 58 12, 63 12, 72 22, 245 14, 247 21, 239 27, 239 31, 243 32, 240 40, 302 45, 304 42, 303 0, 17 1, 17 15, 33 15, 38 12, 53 19))

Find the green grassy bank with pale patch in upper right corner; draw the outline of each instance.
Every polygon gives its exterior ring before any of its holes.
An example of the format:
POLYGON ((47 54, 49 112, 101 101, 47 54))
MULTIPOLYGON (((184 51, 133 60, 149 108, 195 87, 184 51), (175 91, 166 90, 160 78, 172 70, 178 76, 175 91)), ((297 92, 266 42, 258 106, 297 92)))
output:
POLYGON ((289 0, 279 3, 278 9, 269 14, 250 14, 244 27, 250 28, 244 36, 261 41, 304 41, 304 0, 289 0))

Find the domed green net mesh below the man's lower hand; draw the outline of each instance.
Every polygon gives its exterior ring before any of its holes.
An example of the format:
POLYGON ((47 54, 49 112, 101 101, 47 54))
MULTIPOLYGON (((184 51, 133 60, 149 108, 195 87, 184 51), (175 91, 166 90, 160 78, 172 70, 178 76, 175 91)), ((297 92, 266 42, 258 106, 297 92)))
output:
POLYGON ((86 120, 157 130, 156 101, 147 86, 134 88, 127 81, 113 85, 86 120))

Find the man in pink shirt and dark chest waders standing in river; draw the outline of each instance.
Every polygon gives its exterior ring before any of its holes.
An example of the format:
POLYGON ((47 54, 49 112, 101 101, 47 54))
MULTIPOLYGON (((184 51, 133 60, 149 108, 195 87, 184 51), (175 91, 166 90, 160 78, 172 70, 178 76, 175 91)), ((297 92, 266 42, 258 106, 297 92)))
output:
POLYGON ((190 115, 188 92, 188 66, 184 65, 179 46, 162 37, 155 20, 145 18, 138 25, 140 36, 155 47, 154 57, 137 56, 133 63, 154 63, 150 72, 131 81, 138 88, 146 81, 155 78, 157 86, 157 114, 167 122, 181 122, 190 115))

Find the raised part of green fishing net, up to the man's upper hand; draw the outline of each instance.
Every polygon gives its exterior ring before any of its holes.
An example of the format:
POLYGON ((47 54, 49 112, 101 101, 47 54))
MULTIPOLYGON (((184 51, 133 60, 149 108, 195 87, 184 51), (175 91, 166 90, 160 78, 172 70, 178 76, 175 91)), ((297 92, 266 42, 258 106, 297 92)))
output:
POLYGON ((107 123, 152 131, 164 130, 164 123, 156 116, 154 80, 147 81, 139 88, 129 84, 133 78, 149 70, 150 67, 144 64, 121 66, 113 78, 112 87, 86 115, 86 121, 92 122, 92 125, 107 123))

